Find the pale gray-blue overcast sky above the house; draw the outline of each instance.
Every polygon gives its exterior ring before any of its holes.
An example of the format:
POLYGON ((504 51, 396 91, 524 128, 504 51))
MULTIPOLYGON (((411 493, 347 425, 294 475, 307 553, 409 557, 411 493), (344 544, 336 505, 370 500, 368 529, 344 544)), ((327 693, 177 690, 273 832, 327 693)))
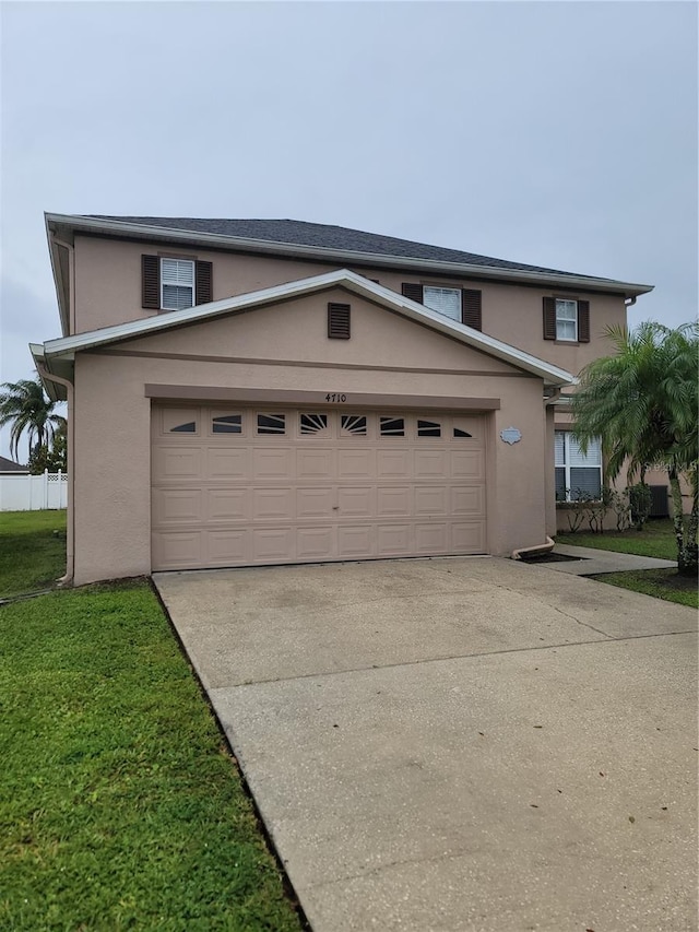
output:
POLYGON ((697 9, 1 3, 0 380, 60 335, 44 211, 339 224, 694 319, 697 9))

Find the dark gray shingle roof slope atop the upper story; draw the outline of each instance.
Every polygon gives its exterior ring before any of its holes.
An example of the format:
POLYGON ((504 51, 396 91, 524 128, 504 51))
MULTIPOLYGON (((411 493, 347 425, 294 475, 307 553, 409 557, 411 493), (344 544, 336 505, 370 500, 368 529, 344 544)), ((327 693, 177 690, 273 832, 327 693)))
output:
MULTIPOLYGON (((436 262, 454 262, 470 266, 483 266, 490 269, 508 269, 519 272, 542 272, 554 275, 576 276, 576 272, 561 272, 542 266, 526 266, 522 262, 509 262, 490 256, 462 252, 459 249, 446 249, 394 236, 381 236, 377 233, 364 233, 346 226, 331 226, 324 223, 307 223, 300 220, 213 220, 182 216, 107 216, 90 214, 94 220, 110 220, 143 226, 159 226, 164 229, 180 229, 191 233, 213 233, 218 236, 238 236, 247 239, 262 239, 269 243, 287 243, 293 246, 316 246, 348 252, 367 252, 401 259, 431 259, 436 262)), ((592 278, 585 275, 585 278, 592 278)), ((600 279, 600 281, 606 281, 600 279)))

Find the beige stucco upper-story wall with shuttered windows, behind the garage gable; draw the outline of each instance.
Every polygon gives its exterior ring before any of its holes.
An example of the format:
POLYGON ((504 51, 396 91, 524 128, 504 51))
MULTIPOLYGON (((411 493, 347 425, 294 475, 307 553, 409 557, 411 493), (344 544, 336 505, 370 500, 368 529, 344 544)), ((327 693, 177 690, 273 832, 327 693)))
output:
MULTIPOLYGON (((202 249, 167 249, 162 245, 127 243, 106 238, 75 238, 76 332, 152 317, 156 311, 141 307, 141 256, 143 253, 204 259, 213 263, 214 299, 247 294, 285 282, 297 281, 339 268, 321 263, 277 259, 249 253, 202 249)), ((608 325, 626 322, 624 298, 583 292, 562 296, 590 300, 590 343, 559 343, 543 339, 542 298, 555 290, 495 284, 469 279, 449 279, 354 267, 381 285, 400 293, 403 282, 422 282, 483 291, 483 330, 506 343, 577 375, 591 359, 609 352, 603 335, 608 325)))

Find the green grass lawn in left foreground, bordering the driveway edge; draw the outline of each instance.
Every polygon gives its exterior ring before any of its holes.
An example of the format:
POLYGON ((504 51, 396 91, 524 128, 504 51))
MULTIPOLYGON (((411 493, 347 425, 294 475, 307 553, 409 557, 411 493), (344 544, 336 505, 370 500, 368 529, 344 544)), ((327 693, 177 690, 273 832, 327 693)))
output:
POLYGON ((0 606, 0 929, 303 928, 146 581, 0 606))

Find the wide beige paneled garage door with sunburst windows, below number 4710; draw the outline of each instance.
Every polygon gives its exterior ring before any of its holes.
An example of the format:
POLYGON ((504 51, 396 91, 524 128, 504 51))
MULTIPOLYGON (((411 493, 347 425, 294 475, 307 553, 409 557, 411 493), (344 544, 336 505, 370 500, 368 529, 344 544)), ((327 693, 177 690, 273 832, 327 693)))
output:
POLYGON ((153 409, 154 569, 483 553, 478 415, 153 409))

